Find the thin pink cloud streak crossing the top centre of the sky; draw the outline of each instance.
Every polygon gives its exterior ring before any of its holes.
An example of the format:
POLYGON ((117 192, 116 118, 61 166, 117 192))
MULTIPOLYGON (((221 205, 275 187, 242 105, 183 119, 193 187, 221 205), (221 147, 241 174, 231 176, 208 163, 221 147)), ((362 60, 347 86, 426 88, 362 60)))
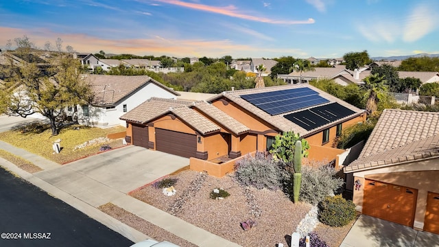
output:
POLYGON ((272 23, 272 24, 287 24, 287 25, 294 25, 294 24, 312 24, 315 23, 314 19, 310 18, 306 21, 289 21, 289 20, 274 20, 269 19, 265 17, 258 17, 258 16, 251 16, 248 14, 241 14, 237 11, 237 8, 234 5, 228 5, 227 7, 214 7, 209 5, 203 5, 199 3, 187 3, 184 1, 178 1, 178 0, 155 0, 159 1, 161 3, 168 3, 172 5, 178 5, 185 8, 191 8, 193 10, 201 10, 205 12, 213 12, 215 14, 223 14, 226 16, 232 16, 239 19, 245 19, 249 21, 257 21, 262 23, 272 23))

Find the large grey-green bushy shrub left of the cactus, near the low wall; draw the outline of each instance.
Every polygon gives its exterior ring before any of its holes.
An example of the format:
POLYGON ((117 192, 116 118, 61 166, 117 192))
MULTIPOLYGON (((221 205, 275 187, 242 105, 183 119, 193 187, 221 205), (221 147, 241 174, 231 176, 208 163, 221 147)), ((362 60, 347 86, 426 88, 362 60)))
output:
POLYGON ((235 179, 242 186, 276 190, 282 187, 284 176, 282 163, 263 152, 244 156, 235 164, 235 179))

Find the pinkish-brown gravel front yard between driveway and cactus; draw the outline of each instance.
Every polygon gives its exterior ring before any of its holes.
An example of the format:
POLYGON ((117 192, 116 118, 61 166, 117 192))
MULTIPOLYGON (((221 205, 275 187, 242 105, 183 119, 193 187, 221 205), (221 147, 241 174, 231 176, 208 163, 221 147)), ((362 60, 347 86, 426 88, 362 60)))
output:
MULTIPOLYGON (((152 185, 130 196, 241 246, 276 246, 278 243, 289 246, 289 237, 311 209, 310 204, 294 204, 282 191, 240 187, 230 176, 214 178, 183 171, 169 178, 178 178, 174 196, 165 196, 152 185), (224 200, 211 199, 209 194, 218 187, 228 191, 230 196, 224 200), (250 218, 257 226, 244 231, 239 223, 250 218)), ((351 226, 333 228, 318 224, 316 231, 330 246, 340 246, 351 226)))

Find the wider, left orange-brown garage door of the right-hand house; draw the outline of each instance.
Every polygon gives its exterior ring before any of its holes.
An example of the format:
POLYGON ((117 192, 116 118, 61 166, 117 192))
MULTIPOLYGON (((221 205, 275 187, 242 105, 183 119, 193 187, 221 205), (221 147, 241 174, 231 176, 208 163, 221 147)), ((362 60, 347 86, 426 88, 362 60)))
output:
POLYGON ((412 227, 417 195, 417 189, 366 179, 363 213, 412 227))

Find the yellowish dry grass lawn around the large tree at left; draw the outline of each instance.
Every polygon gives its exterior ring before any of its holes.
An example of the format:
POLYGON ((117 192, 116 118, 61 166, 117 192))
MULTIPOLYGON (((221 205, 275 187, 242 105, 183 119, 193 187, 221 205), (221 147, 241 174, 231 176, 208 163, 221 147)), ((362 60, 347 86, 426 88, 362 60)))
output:
POLYGON ((99 137, 106 137, 106 134, 121 132, 126 130, 123 126, 114 128, 92 128, 87 126, 72 125, 62 128, 57 136, 51 135, 51 130, 47 124, 30 124, 21 126, 15 130, 0 133, 0 140, 10 143, 18 148, 23 148, 34 154, 38 154, 56 163, 64 164, 75 161, 78 158, 96 154, 102 145, 110 145, 112 148, 120 147, 122 139, 110 139, 106 143, 90 145, 79 150, 74 150, 75 146, 86 141, 91 141, 99 137), (60 139, 61 152, 54 154, 52 144, 60 139))

